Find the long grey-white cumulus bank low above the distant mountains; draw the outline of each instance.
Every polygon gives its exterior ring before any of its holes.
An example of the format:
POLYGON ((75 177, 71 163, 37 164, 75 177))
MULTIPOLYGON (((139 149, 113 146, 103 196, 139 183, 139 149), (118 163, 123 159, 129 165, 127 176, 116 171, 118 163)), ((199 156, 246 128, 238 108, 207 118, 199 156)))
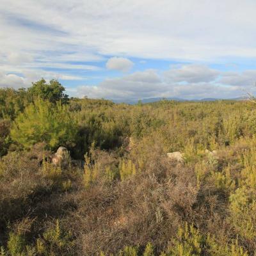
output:
POLYGON ((166 79, 166 72, 159 75, 157 70, 134 72, 127 76, 106 79, 96 86, 79 86, 76 93, 80 96, 117 100, 138 100, 151 97, 228 99, 243 95, 241 86, 236 84, 227 86, 216 81, 216 77, 221 76, 218 70, 204 66, 183 65, 175 68, 174 72, 171 68, 167 74, 169 73, 172 75, 166 79), (202 74, 200 70, 204 70, 205 73, 202 74))

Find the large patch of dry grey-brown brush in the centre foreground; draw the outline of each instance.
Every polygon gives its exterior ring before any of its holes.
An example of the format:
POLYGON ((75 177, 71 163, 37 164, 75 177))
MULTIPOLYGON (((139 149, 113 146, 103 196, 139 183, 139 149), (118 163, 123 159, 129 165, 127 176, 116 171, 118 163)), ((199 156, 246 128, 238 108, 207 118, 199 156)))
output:
POLYGON ((81 255, 117 253, 124 244, 148 241, 161 252, 180 221, 201 218, 200 207, 197 215, 194 209, 198 190, 193 170, 158 154, 148 159, 145 172, 111 186, 102 180, 77 193, 77 211, 67 221, 81 255))

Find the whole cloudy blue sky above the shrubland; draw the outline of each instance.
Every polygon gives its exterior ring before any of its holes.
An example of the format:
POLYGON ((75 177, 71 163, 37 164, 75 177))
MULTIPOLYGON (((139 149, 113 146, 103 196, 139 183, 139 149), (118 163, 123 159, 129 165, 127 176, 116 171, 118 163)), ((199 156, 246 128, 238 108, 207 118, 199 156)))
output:
POLYGON ((256 93, 255 0, 0 0, 0 88, 70 97, 256 93))

